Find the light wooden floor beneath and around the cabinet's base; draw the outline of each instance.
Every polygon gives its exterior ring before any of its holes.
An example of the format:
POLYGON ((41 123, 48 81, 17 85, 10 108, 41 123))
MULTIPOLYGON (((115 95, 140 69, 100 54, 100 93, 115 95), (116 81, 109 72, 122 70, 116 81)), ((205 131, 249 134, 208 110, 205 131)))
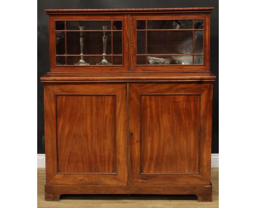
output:
POLYGON ((198 202, 194 195, 61 195, 60 201, 44 200, 45 169, 37 170, 39 208, 213 208, 219 207, 219 168, 212 168, 212 202, 198 202))

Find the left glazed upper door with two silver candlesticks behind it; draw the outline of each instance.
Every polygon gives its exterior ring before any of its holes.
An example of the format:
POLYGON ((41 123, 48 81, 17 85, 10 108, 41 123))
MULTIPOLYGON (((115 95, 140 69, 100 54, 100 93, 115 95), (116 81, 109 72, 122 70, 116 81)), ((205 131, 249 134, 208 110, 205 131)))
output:
POLYGON ((50 16, 51 71, 128 71, 127 15, 50 16))

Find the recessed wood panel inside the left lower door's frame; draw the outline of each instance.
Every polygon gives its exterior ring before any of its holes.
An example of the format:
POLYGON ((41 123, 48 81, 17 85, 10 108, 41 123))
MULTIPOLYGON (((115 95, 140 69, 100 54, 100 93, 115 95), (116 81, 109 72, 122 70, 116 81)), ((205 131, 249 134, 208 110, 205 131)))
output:
POLYGON ((59 173, 115 173, 115 96, 57 95, 59 173))

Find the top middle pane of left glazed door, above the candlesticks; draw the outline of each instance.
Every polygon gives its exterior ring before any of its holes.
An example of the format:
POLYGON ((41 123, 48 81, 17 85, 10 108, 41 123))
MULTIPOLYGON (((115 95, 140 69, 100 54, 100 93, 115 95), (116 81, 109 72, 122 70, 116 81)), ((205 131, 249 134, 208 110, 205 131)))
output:
POLYGON ((79 30, 79 27, 84 27, 84 30, 102 30, 102 26, 107 26, 111 30, 111 21, 67 21, 68 30, 79 30))

